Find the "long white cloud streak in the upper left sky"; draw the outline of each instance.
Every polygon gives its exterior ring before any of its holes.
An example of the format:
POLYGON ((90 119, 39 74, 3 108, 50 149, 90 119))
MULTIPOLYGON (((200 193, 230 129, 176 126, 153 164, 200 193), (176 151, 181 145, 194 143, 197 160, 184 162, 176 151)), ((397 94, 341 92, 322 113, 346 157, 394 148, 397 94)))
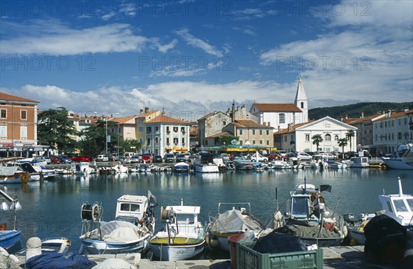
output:
POLYGON ((78 30, 63 24, 45 27, 46 23, 36 21, 26 25, 19 37, 0 40, 1 53, 76 55, 141 51, 149 42, 145 36, 135 35, 128 24, 114 23, 78 30))

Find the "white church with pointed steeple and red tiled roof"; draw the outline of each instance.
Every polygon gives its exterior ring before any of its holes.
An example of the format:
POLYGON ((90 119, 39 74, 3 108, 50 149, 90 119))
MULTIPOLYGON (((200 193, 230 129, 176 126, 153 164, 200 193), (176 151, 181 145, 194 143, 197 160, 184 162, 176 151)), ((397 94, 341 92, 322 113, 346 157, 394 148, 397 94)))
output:
POLYGON ((308 100, 303 83, 299 78, 294 103, 254 103, 250 113, 262 125, 272 126, 274 131, 288 128, 288 124, 302 124, 308 121, 308 100))

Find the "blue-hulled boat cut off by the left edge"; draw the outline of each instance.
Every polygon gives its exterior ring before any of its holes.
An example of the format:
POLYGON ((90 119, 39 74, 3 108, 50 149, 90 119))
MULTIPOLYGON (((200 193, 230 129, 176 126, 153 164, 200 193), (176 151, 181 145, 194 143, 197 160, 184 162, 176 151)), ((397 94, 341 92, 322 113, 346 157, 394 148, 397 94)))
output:
MULTIPOLYGON (((13 229, 7 229, 7 223, 0 224, 0 247, 5 248, 6 250, 18 246, 21 239, 21 230, 17 226, 17 215, 16 211, 21 210, 21 204, 17 196, 10 197, 6 192, 0 189, 0 195, 10 202, 10 207, 6 201, 1 202, 0 211, 3 214, 3 211, 13 211, 13 229)), ((1 216, 0 220, 5 220, 5 216, 1 216)))

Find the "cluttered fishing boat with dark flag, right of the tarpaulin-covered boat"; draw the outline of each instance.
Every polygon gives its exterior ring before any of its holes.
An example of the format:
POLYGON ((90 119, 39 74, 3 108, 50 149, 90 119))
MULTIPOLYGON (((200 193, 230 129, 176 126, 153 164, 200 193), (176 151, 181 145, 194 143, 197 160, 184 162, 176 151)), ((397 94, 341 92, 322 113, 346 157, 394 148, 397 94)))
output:
POLYGON ((347 234, 343 216, 328 207, 321 191, 331 191, 330 185, 301 184, 290 191, 285 226, 306 245, 340 246, 347 234))

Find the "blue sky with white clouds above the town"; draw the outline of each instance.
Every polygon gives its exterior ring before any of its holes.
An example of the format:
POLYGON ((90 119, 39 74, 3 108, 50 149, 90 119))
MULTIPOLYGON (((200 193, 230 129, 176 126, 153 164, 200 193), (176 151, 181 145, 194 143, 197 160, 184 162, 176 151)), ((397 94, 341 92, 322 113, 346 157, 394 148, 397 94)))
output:
MULTIPOLYGON (((413 101, 413 1, 0 1, 0 91, 196 120, 253 102, 413 101)), ((334 115, 332 115, 334 116, 334 115)))

